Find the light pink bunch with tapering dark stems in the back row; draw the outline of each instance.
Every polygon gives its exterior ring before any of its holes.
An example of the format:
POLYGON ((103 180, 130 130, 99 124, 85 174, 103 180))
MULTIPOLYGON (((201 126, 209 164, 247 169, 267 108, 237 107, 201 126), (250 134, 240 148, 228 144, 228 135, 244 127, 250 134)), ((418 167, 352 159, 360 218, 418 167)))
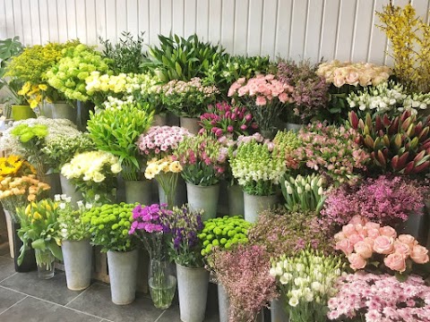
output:
POLYGON ((267 139, 273 139, 276 122, 288 103, 294 88, 277 80, 274 75, 257 75, 250 80, 236 80, 228 89, 228 97, 234 97, 253 114, 255 122, 267 139))

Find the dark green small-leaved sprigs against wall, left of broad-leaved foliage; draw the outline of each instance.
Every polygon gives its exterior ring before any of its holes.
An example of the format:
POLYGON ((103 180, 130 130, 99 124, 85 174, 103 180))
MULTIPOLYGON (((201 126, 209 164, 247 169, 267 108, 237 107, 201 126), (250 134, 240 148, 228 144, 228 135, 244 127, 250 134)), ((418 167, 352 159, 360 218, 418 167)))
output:
POLYGON ((109 60, 109 67, 113 72, 144 72, 141 67, 146 58, 143 36, 144 32, 141 32, 134 39, 130 32, 123 31, 116 43, 99 38, 100 44, 104 46, 102 54, 109 60))

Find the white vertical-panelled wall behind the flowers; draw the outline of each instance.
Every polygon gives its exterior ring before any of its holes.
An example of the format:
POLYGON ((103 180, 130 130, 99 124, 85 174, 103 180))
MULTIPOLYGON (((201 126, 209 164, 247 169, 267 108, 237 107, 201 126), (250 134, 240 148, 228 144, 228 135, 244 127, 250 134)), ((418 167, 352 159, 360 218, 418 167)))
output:
MULTIPOLYGON (((395 0, 406 4, 408 0, 395 0)), ((25 45, 80 38, 99 45, 121 32, 197 33, 236 55, 390 64, 374 11, 389 0, 0 0, 0 38, 25 45)), ((413 0, 428 21, 430 0, 413 0)))

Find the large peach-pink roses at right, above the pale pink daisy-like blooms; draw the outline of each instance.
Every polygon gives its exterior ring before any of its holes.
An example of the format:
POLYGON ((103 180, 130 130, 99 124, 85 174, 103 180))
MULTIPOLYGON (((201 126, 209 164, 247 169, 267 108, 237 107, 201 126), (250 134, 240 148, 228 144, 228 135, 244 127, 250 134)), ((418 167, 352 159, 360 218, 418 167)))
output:
POLYGON ((354 216, 340 233, 334 235, 336 250, 341 250, 354 269, 383 258, 385 267, 404 274, 412 263, 426 264, 428 250, 409 234, 398 235, 389 225, 382 226, 361 216, 354 216))

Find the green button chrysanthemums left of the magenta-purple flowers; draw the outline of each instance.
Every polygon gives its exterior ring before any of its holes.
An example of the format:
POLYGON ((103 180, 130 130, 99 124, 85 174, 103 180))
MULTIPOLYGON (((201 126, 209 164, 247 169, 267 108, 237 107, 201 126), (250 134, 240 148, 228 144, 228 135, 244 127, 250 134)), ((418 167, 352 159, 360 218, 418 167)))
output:
POLYGON ((89 225, 91 244, 101 251, 129 251, 135 247, 133 235, 128 231, 133 221, 133 208, 137 204, 121 202, 90 208, 82 215, 82 223, 89 225))

